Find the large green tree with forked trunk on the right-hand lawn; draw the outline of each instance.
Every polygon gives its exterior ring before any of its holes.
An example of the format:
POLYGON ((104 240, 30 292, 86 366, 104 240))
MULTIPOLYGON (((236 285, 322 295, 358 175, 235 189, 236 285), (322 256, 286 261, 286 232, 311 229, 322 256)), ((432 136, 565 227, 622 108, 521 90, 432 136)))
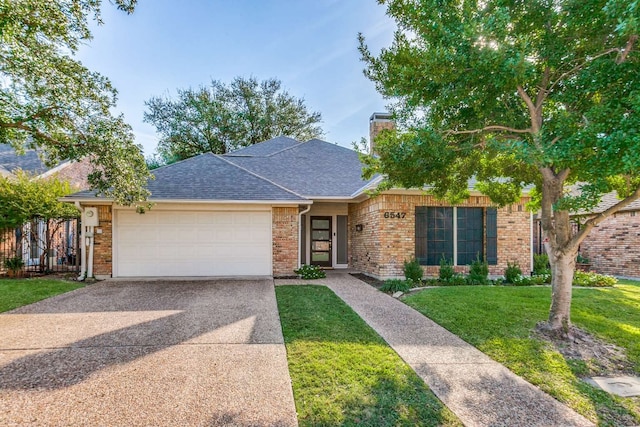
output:
POLYGON ((388 0, 398 25, 365 74, 400 130, 376 140, 368 173, 459 201, 467 182, 500 205, 541 195, 553 271, 550 325, 567 329, 578 245, 640 196, 640 3, 624 0, 388 0), (566 186, 581 191, 570 194, 566 186), (620 203, 571 234, 572 210, 620 203))

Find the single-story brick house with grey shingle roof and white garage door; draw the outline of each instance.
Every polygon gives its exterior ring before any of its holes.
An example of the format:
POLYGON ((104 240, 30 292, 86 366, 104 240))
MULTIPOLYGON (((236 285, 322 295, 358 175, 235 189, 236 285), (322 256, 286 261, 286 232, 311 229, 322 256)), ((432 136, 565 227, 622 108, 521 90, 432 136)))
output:
MULTIPOLYGON (((376 113, 370 129, 389 123, 376 113)), ((412 258, 437 275, 443 254, 461 271, 478 254, 491 274, 507 262, 531 270, 528 195, 504 208, 474 190, 457 206, 422 190, 373 197, 381 178, 361 169, 353 150, 278 137, 154 170, 144 214, 90 191, 66 200, 97 213, 87 251, 96 277, 287 276, 315 264, 391 278, 412 258)))

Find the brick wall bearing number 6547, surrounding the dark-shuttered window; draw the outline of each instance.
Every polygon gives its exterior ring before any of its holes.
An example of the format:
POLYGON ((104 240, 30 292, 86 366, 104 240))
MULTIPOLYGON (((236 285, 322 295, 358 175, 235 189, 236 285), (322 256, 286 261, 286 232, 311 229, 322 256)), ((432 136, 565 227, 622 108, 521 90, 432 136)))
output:
MULTIPOLYGON (((530 213, 520 203, 498 209, 498 264, 490 274, 502 275, 507 261, 517 262, 523 272, 531 270, 530 213)), ((379 278, 403 276, 405 260, 415 257, 416 206, 451 206, 428 195, 383 194, 349 206, 350 266, 379 278), (405 218, 385 218, 385 212, 403 212, 405 218), (356 231, 356 225, 362 231, 356 231)), ((457 206, 489 207, 485 196, 472 196, 457 206)), ((428 276, 437 276, 439 266, 423 266, 428 276)), ((457 266, 466 272, 467 266, 457 266)))

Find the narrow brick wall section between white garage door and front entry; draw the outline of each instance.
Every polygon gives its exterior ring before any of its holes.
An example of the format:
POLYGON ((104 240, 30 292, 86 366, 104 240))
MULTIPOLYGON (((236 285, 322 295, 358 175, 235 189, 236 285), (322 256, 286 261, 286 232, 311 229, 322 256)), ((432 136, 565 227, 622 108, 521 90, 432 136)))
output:
POLYGON ((298 208, 272 210, 273 275, 290 276, 298 268, 298 208))

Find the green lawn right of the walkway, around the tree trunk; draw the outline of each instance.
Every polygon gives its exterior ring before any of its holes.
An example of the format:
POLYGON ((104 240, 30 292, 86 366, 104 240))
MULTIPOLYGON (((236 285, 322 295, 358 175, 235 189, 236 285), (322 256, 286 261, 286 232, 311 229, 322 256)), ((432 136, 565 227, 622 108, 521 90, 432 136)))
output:
MULTIPOLYGON (((587 364, 565 360, 532 336, 536 323, 549 314, 550 288, 435 288, 404 301, 592 421, 640 424, 640 398, 612 396, 586 384, 580 377, 589 374, 587 364)), ((572 321, 626 349, 640 373, 640 283, 574 288, 572 321)))

